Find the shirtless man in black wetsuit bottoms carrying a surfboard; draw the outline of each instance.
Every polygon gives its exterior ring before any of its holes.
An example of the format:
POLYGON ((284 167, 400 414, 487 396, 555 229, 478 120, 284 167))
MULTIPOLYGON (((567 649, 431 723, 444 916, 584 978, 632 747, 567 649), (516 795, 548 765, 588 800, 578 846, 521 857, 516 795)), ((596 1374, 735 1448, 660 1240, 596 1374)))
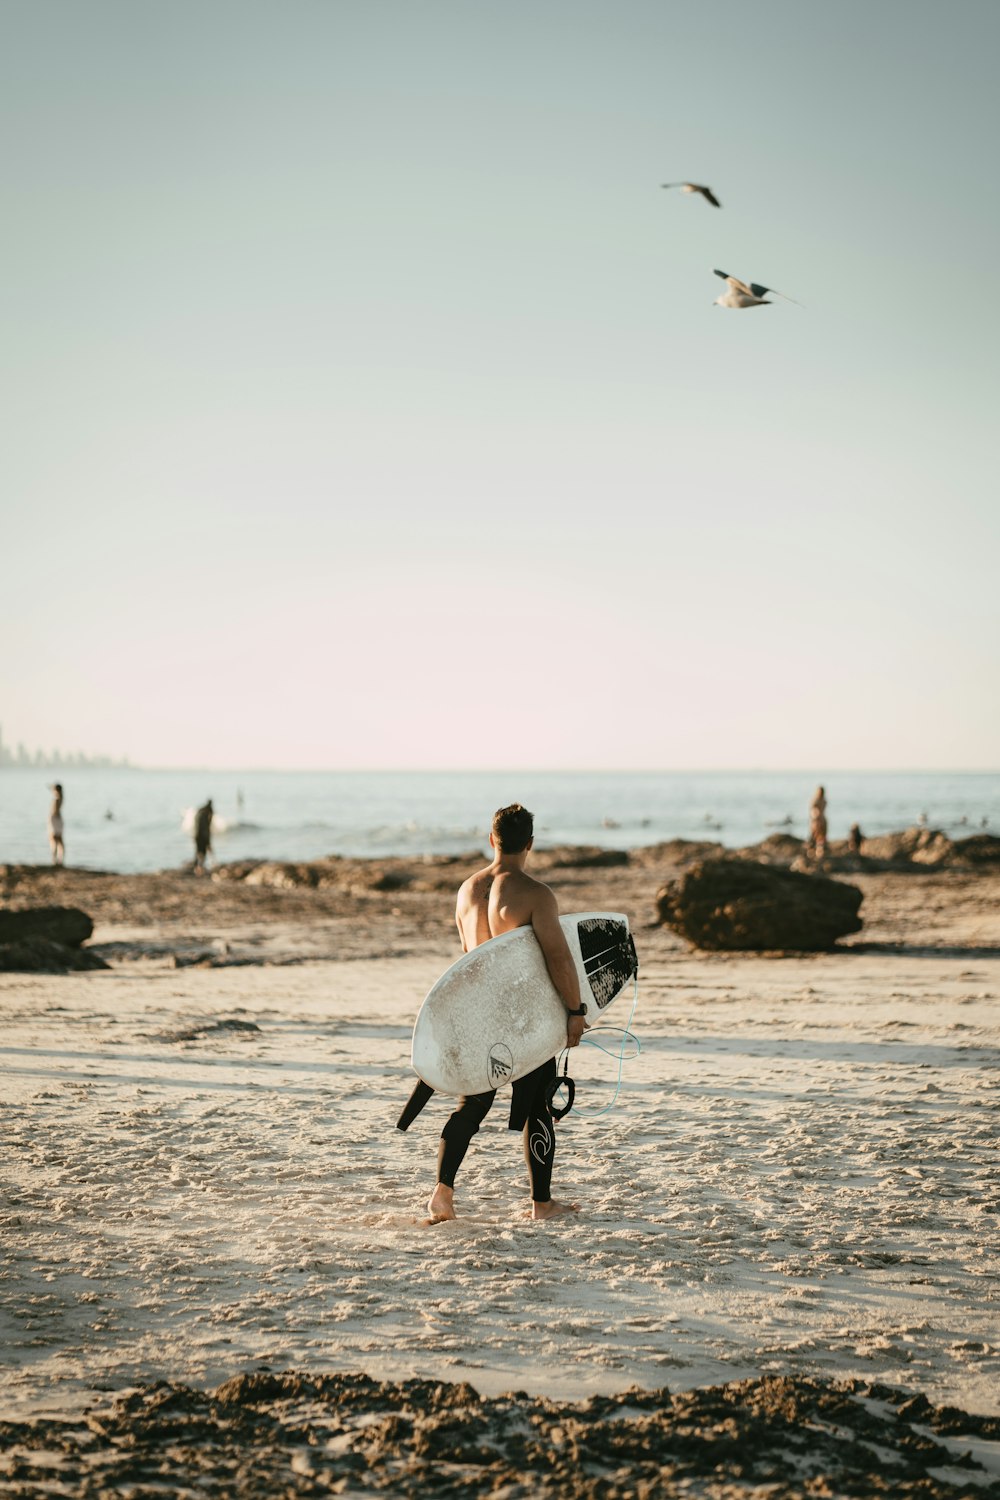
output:
MULTIPOLYGON (((586 1029, 586 1008, 580 1004, 580 984, 559 926, 556 898, 547 885, 525 874, 525 862, 534 843, 532 832, 534 820, 528 808, 520 802, 501 807, 493 816, 490 832, 493 862, 465 882, 459 891, 454 920, 465 952, 513 927, 534 928, 552 982, 567 1008, 567 1047, 576 1047, 586 1029)), ((556 1214, 568 1214, 577 1208, 576 1203, 559 1203, 549 1191, 556 1138, 546 1095, 555 1078, 556 1060, 550 1058, 519 1078, 511 1089, 508 1125, 511 1130, 523 1126, 531 1216, 537 1220, 555 1218, 556 1214)), ((427 1203, 429 1224, 456 1216, 454 1174, 495 1098, 496 1089, 489 1094, 466 1094, 441 1132, 438 1185, 427 1203)))

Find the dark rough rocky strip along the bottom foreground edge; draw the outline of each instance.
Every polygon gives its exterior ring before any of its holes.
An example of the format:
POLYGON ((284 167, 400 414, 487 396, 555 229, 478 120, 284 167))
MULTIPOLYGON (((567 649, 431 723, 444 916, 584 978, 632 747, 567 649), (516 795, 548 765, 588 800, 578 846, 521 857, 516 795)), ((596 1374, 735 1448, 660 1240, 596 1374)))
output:
POLYGON ((211 1395, 139 1386, 78 1422, 0 1422, 0 1485, 15 1500, 958 1500, 990 1484, 963 1438, 1000 1438, 1000 1419, 861 1380, 775 1376, 555 1402, 523 1392, 484 1400, 429 1380, 262 1371, 211 1395))

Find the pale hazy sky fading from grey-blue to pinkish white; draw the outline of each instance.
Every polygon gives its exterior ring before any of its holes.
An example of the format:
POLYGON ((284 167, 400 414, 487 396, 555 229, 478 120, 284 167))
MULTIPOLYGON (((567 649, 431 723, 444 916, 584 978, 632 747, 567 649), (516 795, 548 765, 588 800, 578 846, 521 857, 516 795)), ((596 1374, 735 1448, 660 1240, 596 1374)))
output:
POLYGON ((0 16, 7 741, 997 765, 996 0, 0 16))

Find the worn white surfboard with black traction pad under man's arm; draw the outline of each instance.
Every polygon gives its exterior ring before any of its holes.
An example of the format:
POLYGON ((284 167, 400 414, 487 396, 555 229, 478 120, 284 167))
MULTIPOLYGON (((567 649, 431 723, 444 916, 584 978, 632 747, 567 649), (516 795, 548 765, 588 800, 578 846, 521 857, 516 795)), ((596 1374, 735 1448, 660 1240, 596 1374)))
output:
MULTIPOLYGON (((637 970, 628 918, 561 918, 592 1024, 637 970)), ((462 954, 429 990, 414 1026, 414 1071, 441 1094, 514 1083, 565 1047, 567 1012, 531 927, 462 954)))

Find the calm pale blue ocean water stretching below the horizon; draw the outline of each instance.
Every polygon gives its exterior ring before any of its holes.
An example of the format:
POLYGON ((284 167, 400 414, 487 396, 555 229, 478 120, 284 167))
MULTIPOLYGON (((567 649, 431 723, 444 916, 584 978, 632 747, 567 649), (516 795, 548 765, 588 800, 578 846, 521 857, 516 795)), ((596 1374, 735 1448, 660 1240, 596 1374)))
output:
POLYGON ((48 784, 63 784, 67 864, 163 870, 192 858, 193 808, 213 800, 217 861, 486 850, 492 813, 520 801, 538 848, 636 848, 777 828, 804 837, 817 783, 831 838, 916 824, 1000 832, 1000 774, 802 771, 138 771, 0 770, 0 862, 49 860, 48 784))

